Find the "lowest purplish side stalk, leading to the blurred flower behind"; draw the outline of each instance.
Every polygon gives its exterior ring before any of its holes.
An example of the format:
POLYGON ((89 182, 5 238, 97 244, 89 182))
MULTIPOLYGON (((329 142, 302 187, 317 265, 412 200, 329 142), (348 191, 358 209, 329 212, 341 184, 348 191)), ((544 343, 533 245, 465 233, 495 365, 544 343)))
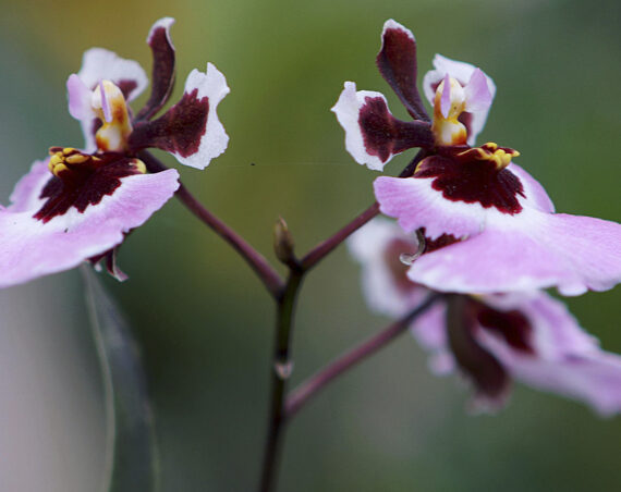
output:
POLYGON ((358 346, 345 352, 332 362, 328 364, 324 369, 319 370, 315 376, 300 384, 287 398, 284 418, 289 420, 331 381, 351 369, 357 362, 375 354, 401 333, 404 333, 410 327, 410 323, 431 307, 440 297, 440 294, 430 295, 423 304, 410 311, 406 316, 389 324, 382 331, 361 343, 358 346))

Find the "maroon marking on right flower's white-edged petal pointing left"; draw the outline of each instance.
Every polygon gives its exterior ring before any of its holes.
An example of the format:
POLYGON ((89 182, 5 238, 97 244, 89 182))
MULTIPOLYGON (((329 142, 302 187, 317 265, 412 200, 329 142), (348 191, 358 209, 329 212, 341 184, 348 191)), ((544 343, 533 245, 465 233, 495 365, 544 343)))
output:
POLYGON ((386 162, 394 153, 412 147, 434 146, 434 134, 428 123, 397 120, 381 97, 367 97, 360 109, 358 124, 368 155, 386 162))

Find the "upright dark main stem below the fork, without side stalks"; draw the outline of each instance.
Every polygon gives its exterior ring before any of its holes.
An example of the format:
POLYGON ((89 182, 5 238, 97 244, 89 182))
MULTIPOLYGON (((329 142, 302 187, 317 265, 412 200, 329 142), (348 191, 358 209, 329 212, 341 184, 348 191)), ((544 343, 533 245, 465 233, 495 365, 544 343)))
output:
POLYGON ((297 292, 302 285, 304 272, 300 268, 291 268, 282 295, 277 299, 277 327, 271 367, 271 405, 269 411, 269 429, 265 447, 260 480, 260 492, 269 492, 276 485, 280 447, 284 423, 284 395, 287 381, 291 376, 290 341, 297 292))

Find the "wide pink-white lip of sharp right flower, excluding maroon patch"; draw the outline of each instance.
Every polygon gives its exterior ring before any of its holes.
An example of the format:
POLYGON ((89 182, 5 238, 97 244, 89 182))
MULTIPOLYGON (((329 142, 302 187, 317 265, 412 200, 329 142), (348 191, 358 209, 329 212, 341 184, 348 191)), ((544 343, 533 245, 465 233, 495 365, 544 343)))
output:
POLYGON ((417 259, 409 272, 412 281, 442 292, 556 286, 563 295, 604 291, 621 281, 620 224, 550 213, 549 197, 523 169, 511 163, 501 172, 512 173, 523 188, 515 195, 515 211, 455 198, 458 188, 446 196, 447 189, 434 188, 433 177, 375 181, 381 212, 397 218, 405 232, 425 227, 431 239, 464 238, 417 259))

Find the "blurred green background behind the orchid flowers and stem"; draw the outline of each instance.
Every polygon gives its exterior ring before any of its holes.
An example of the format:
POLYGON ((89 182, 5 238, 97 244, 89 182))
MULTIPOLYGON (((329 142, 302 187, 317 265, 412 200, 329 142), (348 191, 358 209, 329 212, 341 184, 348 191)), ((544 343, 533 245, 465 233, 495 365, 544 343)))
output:
MULTIPOLYGON (((377 173, 353 162, 329 112, 343 82, 385 93, 405 118, 374 63, 382 23, 393 17, 417 37, 421 74, 440 52, 495 79, 480 140, 519 149, 518 162, 547 187, 558 210, 619 220, 619 5, 1 0, 0 201, 8 202, 19 176, 49 146, 82 145, 64 95, 82 52, 106 47, 149 72, 145 37, 155 20, 170 15, 176 19, 173 100, 186 74, 207 61, 231 87, 218 110, 229 149, 204 172, 180 170, 184 182, 268 258, 279 214, 304 253, 373 200, 377 173)), ((388 172, 397 174, 411 156, 395 158, 388 172)), ((253 490, 266 432, 270 298, 236 254, 175 201, 132 234, 120 261, 131 280, 106 283, 143 348, 162 492, 253 490)), ((343 247, 308 276, 295 327, 294 384, 388 322, 367 311, 358 280, 343 247)), ((583 327, 617 353, 619 292, 569 299, 583 327)), ((100 381, 78 275, 4 291, 0 306, 2 354, 22 354, 19 366, 0 362, 12 368, 0 380, 0 407, 36 410, 0 419, 0 435, 14 434, 9 450, 0 447, 9 456, 1 458, 0 489, 44 490, 28 481, 40 476, 46 491, 97 491, 100 381), (52 457, 56 471, 48 469, 52 457), (25 471, 15 476, 7 459, 25 460, 25 471)), ((425 355, 405 336, 293 421, 279 490, 621 490, 621 419, 601 420, 582 404, 519 384, 507 409, 472 417, 464 411, 467 395, 456 378, 430 376, 425 355)))

